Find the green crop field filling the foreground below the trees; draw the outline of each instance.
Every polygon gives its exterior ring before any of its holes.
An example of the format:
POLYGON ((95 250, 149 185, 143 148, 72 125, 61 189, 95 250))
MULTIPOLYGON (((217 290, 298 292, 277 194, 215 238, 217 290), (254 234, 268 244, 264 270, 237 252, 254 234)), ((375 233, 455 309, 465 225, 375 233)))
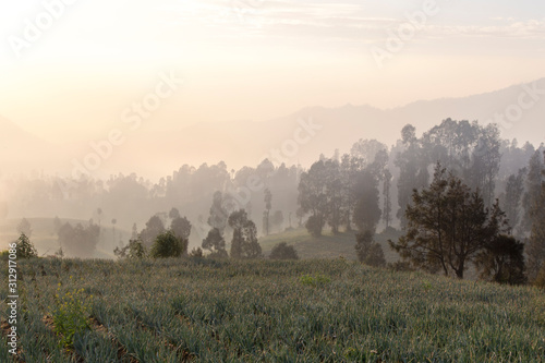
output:
POLYGON ((2 362, 545 361, 545 294, 529 287, 343 258, 37 258, 19 278, 19 354, 4 304, 2 362))

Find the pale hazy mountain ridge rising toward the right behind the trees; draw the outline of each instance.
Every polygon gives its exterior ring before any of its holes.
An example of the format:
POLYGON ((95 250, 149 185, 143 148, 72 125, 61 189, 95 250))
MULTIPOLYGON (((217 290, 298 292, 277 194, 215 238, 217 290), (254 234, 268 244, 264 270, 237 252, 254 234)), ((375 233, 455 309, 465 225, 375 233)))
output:
MULTIPOLYGON (((545 90, 545 78, 525 85, 514 85, 497 92, 485 93, 463 98, 444 98, 422 100, 393 109, 378 109, 371 106, 347 105, 339 108, 308 107, 290 116, 265 122, 234 121, 221 124, 199 123, 183 129, 178 133, 160 137, 147 137, 137 143, 149 143, 157 152, 168 149, 175 159, 216 162, 225 160, 228 166, 232 160, 239 165, 255 166, 269 155, 271 149, 284 146, 288 164, 301 162, 308 166, 323 153, 332 155, 335 149, 348 152, 360 138, 376 138, 388 145, 400 138, 403 125, 411 123, 421 134, 443 120, 479 120, 481 124, 495 122, 495 114, 514 112, 519 96, 529 87, 545 90), (294 133, 300 124, 298 120, 313 120, 323 129, 305 143, 299 145, 298 153, 292 150, 294 133), (161 147, 157 145, 160 141, 161 147), (154 146, 155 145, 155 146, 154 146), (292 155, 293 154, 293 155, 292 155)), ((535 95, 528 95, 523 100, 532 101, 535 95)), ((523 109, 514 122, 502 122, 499 126, 502 138, 517 138, 520 144, 530 141, 535 146, 545 142, 545 95, 531 108, 523 109)), ((506 118, 506 121, 508 119, 506 118)), ((148 135, 149 136, 149 135, 148 135)), ((158 135, 157 135, 158 136, 158 135)), ((142 145, 142 144, 141 144, 142 145)), ((166 157, 165 154, 161 154, 166 157)), ((194 162, 194 164, 198 164, 194 162)))

